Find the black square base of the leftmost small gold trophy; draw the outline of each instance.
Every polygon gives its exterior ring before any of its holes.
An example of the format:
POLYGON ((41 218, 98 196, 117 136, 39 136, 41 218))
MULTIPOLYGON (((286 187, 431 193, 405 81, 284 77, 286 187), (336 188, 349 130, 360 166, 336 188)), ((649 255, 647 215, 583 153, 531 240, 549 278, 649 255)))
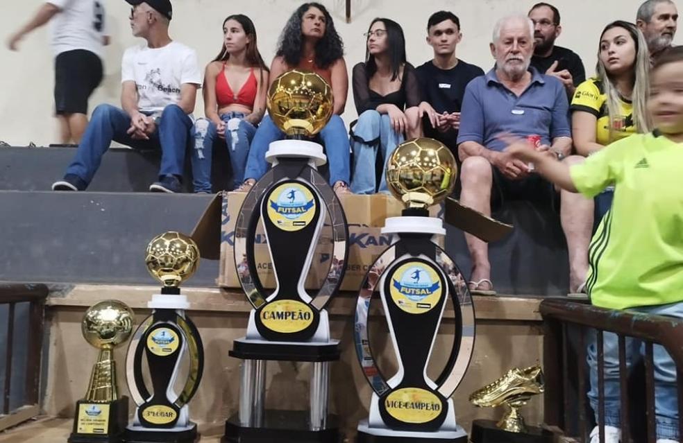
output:
POLYGON ((69 443, 119 443, 123 441, 124 431, 128 425, 128 397, 121 397, 120 399, 110 401, 108 403, 94 403, 87 400, 79 400, 76 402, 76 417, 74 417, 74 429, 69 435, 67 442, 69 443), (109 414, 107 417, 107 426, 98 427, 96 419, 90 420, 90 427, 92 433, 78 432, 78 416, 80 415, 81 405, 102 406, 106 404, 109 406, 109 414))

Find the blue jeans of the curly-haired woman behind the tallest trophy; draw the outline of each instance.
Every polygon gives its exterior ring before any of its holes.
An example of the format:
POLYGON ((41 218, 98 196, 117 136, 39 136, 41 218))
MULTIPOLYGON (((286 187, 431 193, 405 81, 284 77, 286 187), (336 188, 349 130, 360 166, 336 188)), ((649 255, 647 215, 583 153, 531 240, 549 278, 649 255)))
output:
MULTIPOLYGON (((266 162, 268 147, 271 141, 284 138, 285 132, 282 132, 273 123, 270 116, 264 116, 251 142, 249 158, 246 161, 246 170, 244 171, 244 180, 249 178, 258 180, 268 171, 269 165, 266 162)), ((344 127, 342 117, 337 114, 332 115, 328 124, 320 131, 317 139, 322 141, 325 155, 328 157, 330 184, 334 185, 336 182, 348 184, 351 151, 348 148, 348 136, 346 135, 346 127, 344 127)))

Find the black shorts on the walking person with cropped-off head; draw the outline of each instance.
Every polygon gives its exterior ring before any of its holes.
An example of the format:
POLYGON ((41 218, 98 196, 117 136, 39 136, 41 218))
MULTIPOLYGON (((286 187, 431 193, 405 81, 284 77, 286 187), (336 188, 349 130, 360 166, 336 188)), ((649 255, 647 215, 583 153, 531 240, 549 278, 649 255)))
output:
POLYGON ((87 114, 87 99, 102 81, 102 60, 85 49, 74 49, 55 59, 55 111, 87 114))

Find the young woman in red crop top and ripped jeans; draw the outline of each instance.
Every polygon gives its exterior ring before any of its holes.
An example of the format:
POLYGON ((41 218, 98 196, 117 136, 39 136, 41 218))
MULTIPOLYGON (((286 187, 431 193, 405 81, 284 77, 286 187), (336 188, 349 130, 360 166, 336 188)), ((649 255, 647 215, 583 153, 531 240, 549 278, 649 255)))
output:
POLYGON ((244 167, 256 125, 266 110, 268 67, 256 44, 256 28, 246 15, 223 21, 223 47, 204 74, 204 115, 192 128, 194 192, 211 192, 211 159, 216 138, 230 153, 235 187, 244 182, 244 167))

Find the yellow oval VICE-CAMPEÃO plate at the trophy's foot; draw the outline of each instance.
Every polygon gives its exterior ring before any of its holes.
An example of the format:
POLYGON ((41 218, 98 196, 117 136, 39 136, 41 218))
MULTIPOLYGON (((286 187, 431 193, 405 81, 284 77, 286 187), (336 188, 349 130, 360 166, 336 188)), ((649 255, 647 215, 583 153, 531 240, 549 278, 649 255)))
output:
POLYGON ((428 390, 403 388, 387 395, 385 407, 399 422, 427 423, 439 417, 444 404, 428 390))

